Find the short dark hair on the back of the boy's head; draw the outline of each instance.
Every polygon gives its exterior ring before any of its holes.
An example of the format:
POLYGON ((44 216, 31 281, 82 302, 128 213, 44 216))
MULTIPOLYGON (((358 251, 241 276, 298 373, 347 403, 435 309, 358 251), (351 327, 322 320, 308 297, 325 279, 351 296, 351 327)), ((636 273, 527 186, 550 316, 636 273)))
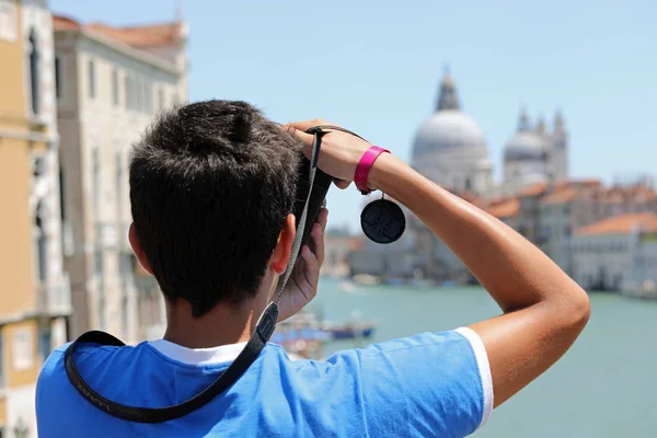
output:
POLYGON ((299 143, 244 102, 163 114, 135 146, 135 231, 166 299, 194 316, 255 296, 291 212, 299 143))

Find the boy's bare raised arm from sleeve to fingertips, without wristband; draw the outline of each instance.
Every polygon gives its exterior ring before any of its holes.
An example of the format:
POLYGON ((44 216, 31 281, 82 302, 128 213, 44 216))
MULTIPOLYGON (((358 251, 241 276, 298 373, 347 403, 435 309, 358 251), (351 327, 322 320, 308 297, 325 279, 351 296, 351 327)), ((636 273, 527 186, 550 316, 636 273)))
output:
MULTIPOLYGON (((325 122, 290 127, 309 146, 312 137, 300 130, 321 124, 325 122)), ((348 134, 331 132, 324 137, 320 168, 350 181, 368 147, 348 134)), ((389 194, 417 215, 504 311, 471 326, 486 348, 495 406, 543 373, 573 345, 590 314, 588 296, 539 249, 394 155, 380 155, 368 181, 370 188, 389 194)))

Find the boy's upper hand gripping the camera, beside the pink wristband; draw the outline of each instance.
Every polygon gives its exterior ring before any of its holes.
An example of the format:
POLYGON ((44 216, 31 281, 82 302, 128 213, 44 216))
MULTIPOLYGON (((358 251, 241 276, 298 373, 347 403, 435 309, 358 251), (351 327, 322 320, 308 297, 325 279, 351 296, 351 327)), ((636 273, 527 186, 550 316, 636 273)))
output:
MULTIPOLYGON (((306 134, 306 130, 318 125, 336 126, 335 124, 319 118, 284 125, 288 132, 301 140, 304 145, 303 153, 308 159, 310 159, 312 154, 312 141, 314 136, 306 134)), ((349 186, 350 182, 354 181, 356 166, 362 158, 362 154, 371 145, 347 132, 327 128, 325 130, 330 134, 322 137, 322 150, 318 160, 318 165, 323 172, 338 180, 335 185, 339 188, 346 188, 349 186)))

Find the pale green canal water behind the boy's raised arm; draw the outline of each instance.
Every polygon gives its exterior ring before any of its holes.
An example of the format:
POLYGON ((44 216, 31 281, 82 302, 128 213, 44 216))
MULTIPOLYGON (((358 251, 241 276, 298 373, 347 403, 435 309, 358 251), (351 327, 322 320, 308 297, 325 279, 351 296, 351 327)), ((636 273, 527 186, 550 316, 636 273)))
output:
MULTIPOLYGON (((474 437, 657 437, 657 303, 592 295, 591 306, 591 320, 566 356, 495 410, 474 437)), ((456 328, 499 312, 479 288, 342 292, 327 279, 311 307, 332 320, 348 320, 355 310, 379 320, 370 342, 456 328)), ((355 345, 362 343, 334 343, 324 353, 355 345)))

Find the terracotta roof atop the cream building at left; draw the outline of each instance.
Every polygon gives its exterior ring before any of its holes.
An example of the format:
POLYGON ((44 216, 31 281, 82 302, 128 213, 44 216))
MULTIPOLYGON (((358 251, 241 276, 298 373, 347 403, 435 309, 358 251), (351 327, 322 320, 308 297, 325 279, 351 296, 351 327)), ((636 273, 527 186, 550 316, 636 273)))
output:
POLYGON ((103 23, 84 25, 67 16, 54 14, 53 26, 55 31, 87 28, 137 48, 166 46, 175 43, 183 35, 181 22, 115 27, 103 23))

